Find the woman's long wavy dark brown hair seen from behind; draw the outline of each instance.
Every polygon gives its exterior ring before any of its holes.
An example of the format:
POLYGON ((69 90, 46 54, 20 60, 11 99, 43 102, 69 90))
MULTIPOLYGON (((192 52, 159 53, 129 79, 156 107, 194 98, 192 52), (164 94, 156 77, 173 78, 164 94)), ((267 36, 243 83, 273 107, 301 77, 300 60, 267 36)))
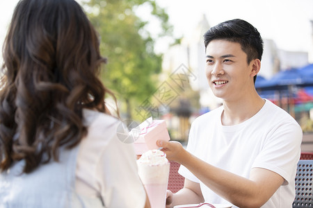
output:
POLYGON ((21 0, 3 44, 0 171, 25 160, 24 173, 58 161, 61 146, 86 135, 83 108, 106 112, 111 92, 97 78, 106 62, 74 0, 21 0))

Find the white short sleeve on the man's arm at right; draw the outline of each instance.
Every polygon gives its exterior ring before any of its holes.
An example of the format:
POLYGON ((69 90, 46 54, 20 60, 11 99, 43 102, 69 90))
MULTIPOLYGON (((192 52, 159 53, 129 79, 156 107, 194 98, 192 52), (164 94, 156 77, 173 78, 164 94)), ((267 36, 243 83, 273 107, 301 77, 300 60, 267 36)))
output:
POLYGON ((270 132, 252 168, 266 168, 284 177, 284 185, 294 180, 300 158, 303 132, 293 121, 286 121, 270 132))

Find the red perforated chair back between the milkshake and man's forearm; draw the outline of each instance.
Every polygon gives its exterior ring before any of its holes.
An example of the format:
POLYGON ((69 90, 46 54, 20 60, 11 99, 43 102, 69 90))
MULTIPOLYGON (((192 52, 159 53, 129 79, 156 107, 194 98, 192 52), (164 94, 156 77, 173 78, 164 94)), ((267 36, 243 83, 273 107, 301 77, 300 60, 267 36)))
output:
POLYGON ((176 193, 184 187, 185 178, 179 175, 178 169, 180 164, 177 162, 170 162, 170 176, 168 177, 168 190, 176 193))

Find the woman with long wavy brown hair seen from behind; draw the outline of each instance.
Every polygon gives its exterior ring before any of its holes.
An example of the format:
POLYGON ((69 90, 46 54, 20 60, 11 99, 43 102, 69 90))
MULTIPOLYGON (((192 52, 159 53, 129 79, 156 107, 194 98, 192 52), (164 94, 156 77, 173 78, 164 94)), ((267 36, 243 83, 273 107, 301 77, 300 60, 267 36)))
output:
POLYGON ((76 1, 19 1, 3 45, 0 207, 150 207, 104 105, 104 62, 76 1))

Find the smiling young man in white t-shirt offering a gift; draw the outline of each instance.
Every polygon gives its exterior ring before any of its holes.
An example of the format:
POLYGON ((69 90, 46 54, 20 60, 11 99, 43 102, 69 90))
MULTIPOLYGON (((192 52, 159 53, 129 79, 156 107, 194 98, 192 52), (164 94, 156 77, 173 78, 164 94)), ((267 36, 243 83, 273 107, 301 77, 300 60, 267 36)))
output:
POLYGON ((204 34, 206 74, 223 105, 195 119, 186 150, 157 141, 168 159, 182 164, 186 180, 167 207, 199 202, 233 207, 291 207, 302 130, 287 112, 257 94, 262 37, 233 19, 204 34))

